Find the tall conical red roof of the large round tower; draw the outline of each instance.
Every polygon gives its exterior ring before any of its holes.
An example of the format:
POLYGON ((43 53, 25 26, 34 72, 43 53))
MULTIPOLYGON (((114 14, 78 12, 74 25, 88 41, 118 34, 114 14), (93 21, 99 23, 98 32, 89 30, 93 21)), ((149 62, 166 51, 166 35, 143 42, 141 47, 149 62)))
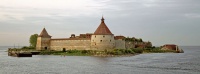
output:
POLYGON ((95 34, 95 35, 112 35, 111 31, 110 31, 109 28, 106 26, 103 17, 102 17, 102 19, 101 19, 101 24, 100 24, 99 27, 96 29, 96 31, 94 32, 94 34, 95 34))

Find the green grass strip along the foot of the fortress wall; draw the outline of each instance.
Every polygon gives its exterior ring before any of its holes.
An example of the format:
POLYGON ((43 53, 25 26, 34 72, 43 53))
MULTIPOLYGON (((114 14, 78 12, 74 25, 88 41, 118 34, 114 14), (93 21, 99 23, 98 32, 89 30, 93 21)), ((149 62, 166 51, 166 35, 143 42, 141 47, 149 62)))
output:
POLYGON ((114 49, 114 50, 67 50, 64 51, 51 51, 43 50, 40 55, 66 55, 66 56, 92 56, 92 55, 126 55, 135 54, 131 49, 114 49))

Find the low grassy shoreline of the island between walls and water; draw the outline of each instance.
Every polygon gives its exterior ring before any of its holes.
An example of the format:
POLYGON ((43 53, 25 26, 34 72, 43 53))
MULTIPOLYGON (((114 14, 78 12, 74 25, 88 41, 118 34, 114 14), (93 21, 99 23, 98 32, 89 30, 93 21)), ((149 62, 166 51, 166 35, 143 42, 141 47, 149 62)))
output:
MULTIPOLYGON (((131 57, 139 54, 147 53, 176 53, 172 50, 160 49, 114 49, 114 50, 67 50, 67 51, 53 51, 43 50, 38 51, 35 49, 8 49, 8 54, 24 54, 32 53, 32 55, 60 55, 60 56, 95 56, 95 57, 131 57), (33 54, 38 52, 38 54, 33 54)), ((9 56, 9 55, 8 55, 9 56)))

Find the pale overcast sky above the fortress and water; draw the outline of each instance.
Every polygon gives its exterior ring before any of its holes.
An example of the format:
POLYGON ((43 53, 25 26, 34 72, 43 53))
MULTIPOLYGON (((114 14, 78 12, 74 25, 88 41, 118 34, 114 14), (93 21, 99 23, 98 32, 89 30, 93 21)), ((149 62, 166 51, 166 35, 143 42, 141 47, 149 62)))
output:
POLYGON ((111 32, 155 46, 200 46, 200 0, 0 0, 0 46, 27 46, 45 27, 52 38, 111 32))

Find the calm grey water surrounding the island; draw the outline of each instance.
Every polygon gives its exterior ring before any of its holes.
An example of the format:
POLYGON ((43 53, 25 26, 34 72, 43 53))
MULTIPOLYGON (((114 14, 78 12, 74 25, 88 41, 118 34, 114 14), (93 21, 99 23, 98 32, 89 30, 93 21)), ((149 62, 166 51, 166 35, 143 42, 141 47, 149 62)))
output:
POLYGON ((185 53, 152 53, 130 57, 7 56, 0 47, 0 74, 199 74, 200 47, 185 53))

